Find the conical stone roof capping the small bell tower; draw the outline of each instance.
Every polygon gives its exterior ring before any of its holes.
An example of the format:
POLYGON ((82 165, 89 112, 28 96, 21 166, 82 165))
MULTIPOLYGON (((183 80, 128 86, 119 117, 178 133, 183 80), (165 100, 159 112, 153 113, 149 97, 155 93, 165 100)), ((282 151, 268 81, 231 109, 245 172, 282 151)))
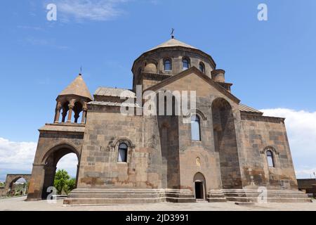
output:
POLYGON ((74 81, 59 94, 59 96, 67 95, 86 97, 93 101, 90 91, 88 90, 88 86, 86 86, 81 74, 79 74, 76 79, 74 79, 74 81))

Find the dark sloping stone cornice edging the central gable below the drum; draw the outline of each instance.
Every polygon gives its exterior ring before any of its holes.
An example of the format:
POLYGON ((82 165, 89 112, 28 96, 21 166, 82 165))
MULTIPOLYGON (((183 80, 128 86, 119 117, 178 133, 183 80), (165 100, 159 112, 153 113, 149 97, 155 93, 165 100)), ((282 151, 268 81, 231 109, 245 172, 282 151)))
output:
POLYGON ((192 73, 195 73, 196 75, 198 75, 199 77, 201 77, 202 79, 204 79, 204 81, 206 81, 207 83, 211 84, 211 86, 213 86, 214 88, 216 88, 218 91, 220 91, 220 93, 224 94, 225 96, 228 96, 228 98, 230 98, 232 101, 235 101, 236 103, 239 103, 240 100, 238 98, 236 98, 234 95, 232 95, 229 91, 227 91, 226 89, 224 89, 222 86, 220 86, 219 84, 216 84, 216 82, 213 81, 213 79, 207 77, 203 72, 201 72, 199 69, 197 69, 195 66, 193 66, 192 68, 185 70, 183 72, 178 73, 178 75, 174 75, 173 77, 169 77, 167 79, 164 79, 162 82, 160 82, 159 84, 155 84, 154 86, 151 86, 150 88, 144 90, 150 90, 150 91, 157 91, 159 89, 161 89, 162 87, 171 84, 173 82, 176 82, 176 80, 185 77, 187 75, 190 75, 192 73))

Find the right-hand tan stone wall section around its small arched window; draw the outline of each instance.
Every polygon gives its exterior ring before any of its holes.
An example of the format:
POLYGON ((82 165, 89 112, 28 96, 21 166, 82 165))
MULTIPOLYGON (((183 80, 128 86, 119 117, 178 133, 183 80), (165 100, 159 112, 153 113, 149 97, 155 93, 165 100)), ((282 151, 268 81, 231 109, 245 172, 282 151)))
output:
POLYGON ((242 113, 242 174, 247 188, 295 189, 297 181, 284 119, 242 113), (268 167, 265 148, 275 149, 275 167, 268 167))

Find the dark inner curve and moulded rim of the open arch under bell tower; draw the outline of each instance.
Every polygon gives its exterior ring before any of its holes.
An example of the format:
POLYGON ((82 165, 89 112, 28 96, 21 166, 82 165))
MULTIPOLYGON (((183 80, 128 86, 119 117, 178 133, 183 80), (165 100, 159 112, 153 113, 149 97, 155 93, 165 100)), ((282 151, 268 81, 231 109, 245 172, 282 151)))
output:
POLYGON ((75 148, 69 145, 56 146, 55 148, 48 151, 44 157, 44 184, 41 193, 41 198, 46 199, 47 195, 51 192, 48 191, 48 188, 54 186, 55 172, 57 169, 58 162, 68 154, 74 153, 77 155, 77 168, 76 168, 76 186, 78 181, 78 168, 79 168, 79 153, 75 148), (47 192, 48 191, 48 192, 47 192))

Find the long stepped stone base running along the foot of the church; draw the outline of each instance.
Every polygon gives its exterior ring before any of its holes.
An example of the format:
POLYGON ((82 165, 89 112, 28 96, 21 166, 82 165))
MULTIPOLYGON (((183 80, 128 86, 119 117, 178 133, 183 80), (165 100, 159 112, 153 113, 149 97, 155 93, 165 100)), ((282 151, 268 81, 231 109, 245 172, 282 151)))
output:
MULTIPOLYGON (((258 193, 253 189, 223 189, 209 190, 206 201, 221 203, 232 201, 235 203, 258 203, 258 193)), ((190 190, 177 189, 97 189, 77 188, 64 200, 65 205, 118 205, 118 204, 146 204, 146 203, 195 203, 196 200, 190 190)), ((308 196, 301 191, 268 190, 268 203, 310 203, 308 196)))

